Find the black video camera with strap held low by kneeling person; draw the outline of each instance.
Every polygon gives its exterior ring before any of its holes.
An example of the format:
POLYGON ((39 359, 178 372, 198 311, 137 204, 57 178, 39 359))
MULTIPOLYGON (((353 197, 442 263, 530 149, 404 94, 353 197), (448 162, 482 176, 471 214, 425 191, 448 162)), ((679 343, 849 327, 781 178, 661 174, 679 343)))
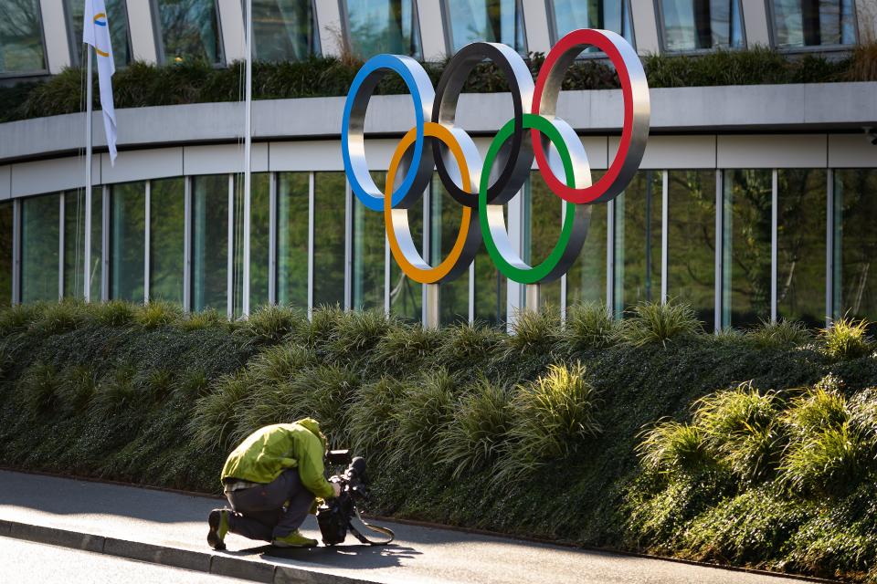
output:
POLYGON ((384 546, 396 537, 392 530, 386 527, 372 526, 363 520, 359 514, 357 503, 368 498, 368 480, 365 477, 365 458, 356 456, 352 458, 349 450, 333 450, 326 454, 327 465, 347 464, 343 474, 334 474, 329 478, 330 483, 341 485, 341 495, 328 499, 317 507, 317 523, 320 525, 322 543, 326 546, 334 546, 343 542, 349 529, 354 537, 364 544, 372 546, 384 546), (389 537, 386 541, 372 541, 361 534, 351 523, 356 516, 362 524, 374 531, 389 537))

